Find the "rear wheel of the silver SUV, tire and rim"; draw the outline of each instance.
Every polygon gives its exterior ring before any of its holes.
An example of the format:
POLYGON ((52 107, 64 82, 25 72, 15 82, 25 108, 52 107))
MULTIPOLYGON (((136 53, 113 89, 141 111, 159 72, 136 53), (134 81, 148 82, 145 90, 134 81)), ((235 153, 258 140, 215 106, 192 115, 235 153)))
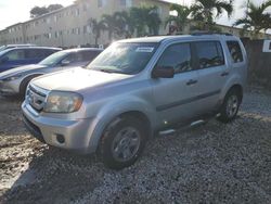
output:
POLYGON ((236 118, 236 115, 238 113, 240 104, 242 101, 241 93, 237 89, 231 89, 224 98, 223 104, 220 107, 220 115, 218 117, 218 120, 222 123, 230 123, 236 118), (230 103, 234 103, 234 105, 231 107, 230 103))

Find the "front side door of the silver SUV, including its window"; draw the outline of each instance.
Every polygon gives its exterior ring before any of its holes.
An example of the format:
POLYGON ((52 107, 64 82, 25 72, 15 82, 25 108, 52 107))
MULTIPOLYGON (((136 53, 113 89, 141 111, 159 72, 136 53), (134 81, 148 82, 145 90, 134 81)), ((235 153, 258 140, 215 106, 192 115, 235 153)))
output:
POLYGON ((166 48, 156 66, 175 68, 173 78, 153 79, 158 126, 166 128, 186 120, 197 113, 198 71, 192 60, 191 43, 175 43, 166 48))

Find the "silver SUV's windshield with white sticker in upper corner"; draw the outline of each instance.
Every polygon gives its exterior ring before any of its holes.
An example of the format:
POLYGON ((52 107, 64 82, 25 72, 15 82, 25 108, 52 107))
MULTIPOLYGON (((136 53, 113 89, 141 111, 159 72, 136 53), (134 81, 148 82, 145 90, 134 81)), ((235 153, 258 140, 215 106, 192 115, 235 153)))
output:
POLYGON ((116 42, 102 52, 87 68, 133 75, 144 69, 158 43, 116 42))

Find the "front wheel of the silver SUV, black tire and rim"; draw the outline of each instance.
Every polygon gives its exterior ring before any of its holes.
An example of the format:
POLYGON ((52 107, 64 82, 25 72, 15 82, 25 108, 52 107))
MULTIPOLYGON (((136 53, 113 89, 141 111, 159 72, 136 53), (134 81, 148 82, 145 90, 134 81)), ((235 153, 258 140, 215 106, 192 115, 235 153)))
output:
POLYGON ((143 152, 146 142, 145 133, 146 131, 144 125, 134 117, 125 116, 116 118, 114 122, 112 122, 106 127, 100 143, 100 154, 105 166, 118 170, 132 165, 143 152), (129 135, 128 130, 131 131, 131 136, 129 135), (126 142, 128 140, 130 142, 126 142), (132 146, 131 141, 136 141, 137 145, 134 144, 134 146, 132 146), (126 150, 132 152, 129 158, 125 158, 125 154, 120 153, 121 151, 125 152, 126 150), (121 161, 121 157, 124 161, 121 161))

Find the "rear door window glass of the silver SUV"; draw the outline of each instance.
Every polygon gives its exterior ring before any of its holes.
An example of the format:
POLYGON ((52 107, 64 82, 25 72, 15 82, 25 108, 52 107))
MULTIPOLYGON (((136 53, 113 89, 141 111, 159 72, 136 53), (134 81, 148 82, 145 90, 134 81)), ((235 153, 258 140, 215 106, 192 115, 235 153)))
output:
POLYGON ((199 68, 208 68, 224 64, 221 44, 217 41, 195 42, 199 68))

